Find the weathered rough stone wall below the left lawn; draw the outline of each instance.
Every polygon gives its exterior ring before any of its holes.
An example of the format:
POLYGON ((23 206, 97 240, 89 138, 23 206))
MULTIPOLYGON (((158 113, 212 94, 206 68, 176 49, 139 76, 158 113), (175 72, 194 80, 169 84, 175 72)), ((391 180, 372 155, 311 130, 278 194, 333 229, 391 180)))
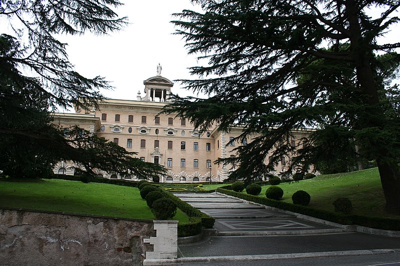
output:
POLYGON ((0 210, 0 266, 136 266, 152 221, 0 210))

